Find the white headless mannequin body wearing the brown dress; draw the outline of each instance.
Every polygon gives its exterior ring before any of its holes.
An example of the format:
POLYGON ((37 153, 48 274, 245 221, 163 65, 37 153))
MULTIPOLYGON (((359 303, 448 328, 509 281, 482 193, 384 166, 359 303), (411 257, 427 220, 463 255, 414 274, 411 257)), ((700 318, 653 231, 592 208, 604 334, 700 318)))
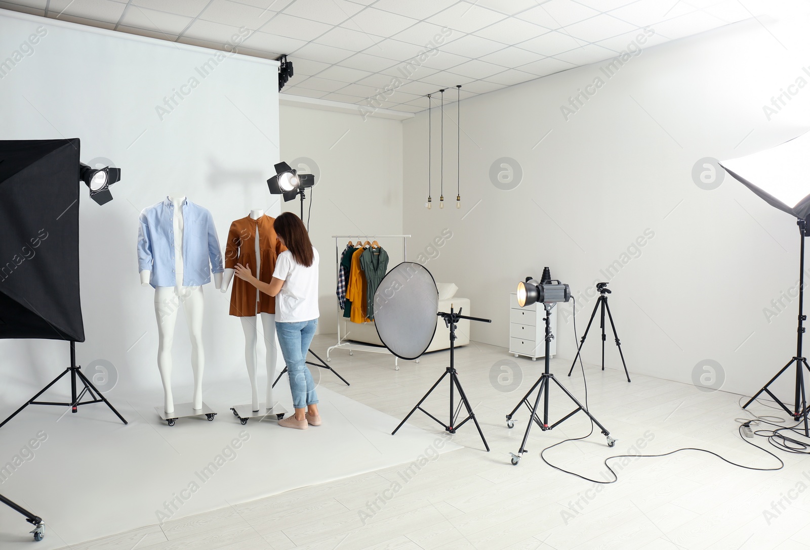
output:
MULTIPOLYGON (((249 218, 251 220, 259 220, 264 216, 264 210, 262 209, 251 209, 249 218)), ((239 220, 237 220, 239 222, 239 220)), ((234 222, 234 224, 237 224, 234 222)), ((262 265, 262 251, 259 249, 259 243, 262 240, 260 239, 259 235, 259 224, 256 223, 250 227, 250 231, 254 232, 254 258, 256 259, 255 265, 251 265, 251 268, 255 269, 256 277, 260 277, 260 273, 266 269, 272 269, 271 265, 262 265)), ((233 226, 232 226, 233 232, 233 226)), ((266 237, 266 235, 263 235, 266 237)), ((232 237, 233 235, 228 235, 228 246, 232 246, 232 237)), ((246 235, 239 239, 240 243, 243 239, 245 239, 246 235)), ((275 241, 275 235, 272 238, 275 241)), ((275 242, 272 243, 275 246, 275 242)), ((243 251, 244 252, 244 251, 243 251)), ((226 257, 228 259, 231 258, 233 255, 233 251, 230 254, 226 252, 226 257)), ((227 264, 226 260, 226 264, 227 264)), ((220 286, 220 290, 222 292, 228 291, 228 286, 230 286, 231 280, 233 278, 233 269, 226 268, 224 271, 224 277, 222 281, 222 286, 220 286)), ((251 288, 251 294, 254 292, 254 289, 251 288)), ((265 401, 264 401, 264 412, 272 412, 275 400, 273 399, 273 382, 275 381, 275 363, 278 358, 278 348, 275 345, 275 314, 267 313, 264 311, 259 312, 258 314, 256 311, 258 310, 258 303, 260 302, 261 296, 259 295, 258 289, 255 289, 255 299, 251 299, 251 307, 250 311, 240 311, 241 315, 239 320, 242 324, 242 330, 245 332, 245 364, 247 365, 248 369, 248 378, 250 379, 250 388, 251 388, 251 401, 250 401, 250 410, 252 412, 258 412, 260 408, 262 408, 261 404, 258 400, 258 384, 256 383, 256 371, 258 369, 258 358, 256 352, 256 345, 258 341, 258 317, 262 319, 262 328, 264 329, 264 345, 266 350, 266 369, 267 369, 267 387, 265 391, 265 401)), ((275 298, 271 298, 275 301, 275 298)), ((233 303, 233 302, 232 302, 233 303)), ((274 310, 275 311, 275 310, 274 310)))

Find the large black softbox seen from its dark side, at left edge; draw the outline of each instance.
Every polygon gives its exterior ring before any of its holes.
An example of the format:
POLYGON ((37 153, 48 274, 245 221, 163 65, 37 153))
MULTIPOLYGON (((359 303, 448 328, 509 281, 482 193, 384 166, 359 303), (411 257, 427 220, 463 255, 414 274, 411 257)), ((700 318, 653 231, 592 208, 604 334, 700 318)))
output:
POLYGON ((0 141, 0 338, 84 341, 79 139, 0 141))

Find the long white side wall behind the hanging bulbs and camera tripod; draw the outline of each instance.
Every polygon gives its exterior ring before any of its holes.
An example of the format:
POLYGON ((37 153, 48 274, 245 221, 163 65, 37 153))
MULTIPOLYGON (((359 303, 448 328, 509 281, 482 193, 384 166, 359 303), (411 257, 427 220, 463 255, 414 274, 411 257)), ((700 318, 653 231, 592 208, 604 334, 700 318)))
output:
MULTIPOLYGON (((475 315, 492 318, 472 325, 474 340, 508 345, 507 294, 548 265, 577 297, 594 281, 611 282, 631 372, 690 382, 697 362, 714 359, 724 389, 751 392, 790 360, 797 301, 770 322, 763 309, 798 277, 795 220, 729 176, 714 190, 699 188, 692 170, 703 157, 741 156, 810 127, 810 86, 793 88, 798 94, 770 121, 763 112, 796 78, 810 83, 802 70, 810 65, 807 8, 796 6, 769 5, 774 19, 645 48, 612 78, 600 63, 464 100, 460 210, 453 207, 455 105, 445 120, 450 209, 424 209, 426 114, 403 123, 404 230, 416 247, 429 247, 444 227, 453 232, 443 247, 428 249, 435 257, 426 265, 474 301, 475 315), (566 121, 561 105, 599 76, 603 87, 566 121), (513 190, 490 180, 500 157, 522 168, 513 190), (654 236, 631 247, 645 231, 654 236), (600 273, 615 260, 619 273, 600 273)), ((434 205, 437 181, 435 163, 434 205)), ((582 336, 595 298, 580 299, 582 336)), ((573 358, 566 317, 557 349, 573 358)), ((597 322, 586 362, 599 362, 598 331, 597 322)), ((608 368, 620 368, 615 347, 608 336, 608 368)))

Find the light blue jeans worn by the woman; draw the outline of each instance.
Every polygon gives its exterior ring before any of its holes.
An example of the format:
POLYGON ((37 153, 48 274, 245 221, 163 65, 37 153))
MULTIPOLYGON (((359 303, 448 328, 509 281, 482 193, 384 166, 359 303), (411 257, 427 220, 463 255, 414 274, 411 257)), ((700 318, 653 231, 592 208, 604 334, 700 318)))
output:
POLYGON ((315 383, 306 366, 306 354, 317 327, 318 319, 299 323, 275 322, 275 333, 279 336, 281 354, 287 365, 292 406, 295 408, 306 408, 307 405, 318 403, 315 383))

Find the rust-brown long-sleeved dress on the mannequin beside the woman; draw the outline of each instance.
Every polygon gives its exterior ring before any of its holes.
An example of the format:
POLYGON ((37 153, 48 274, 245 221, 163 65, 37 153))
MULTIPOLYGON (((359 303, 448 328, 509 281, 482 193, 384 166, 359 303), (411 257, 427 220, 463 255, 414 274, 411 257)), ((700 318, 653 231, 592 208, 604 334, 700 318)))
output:
MULTIPOLYGON (((250 273, 256 276, 256 230, 259 236, 259 264, 258 280, 269 283, 275 271, 275 260, 281 252, 287 250, 281 241, 276 238, 273 229, 275 218, 263 215, 258 220, 247 216, 231 224, 228 231, 228 243, 225 245, 225 269, 234 269, 237 264, 250 267, 250 273)), ((257 313, 271 313, 275 315, 275 298, 258 293, 256 302, 256 287, 239 277, 233 277, 231 290, 230 315, 237 317, 254 317, 257 313)))

